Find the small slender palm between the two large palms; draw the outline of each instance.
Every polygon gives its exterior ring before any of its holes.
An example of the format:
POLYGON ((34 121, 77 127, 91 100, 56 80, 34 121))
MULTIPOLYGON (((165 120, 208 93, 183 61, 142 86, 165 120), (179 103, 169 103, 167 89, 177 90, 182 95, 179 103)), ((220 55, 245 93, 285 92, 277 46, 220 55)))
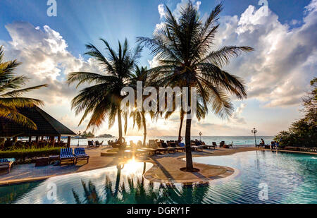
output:
MULTIPOLYGON (((147 67, 141 67, 139 68, 137 66, 135 74, 132 75, 132 83, 131 86, 137 90, 137 82, 142 81, 143 87, 149 86, 149 78, 147 76, 147 67)), ((143 100, 146 99, 147 96, 143 96, 143 100)), ((136 101, 135 101, 136 102, 136 101)), ((143 102, 142 102, 143 104, 143 102)), ((139 111, 135 109, 134 111, 131 111, 130 118, 133 119, 133 127, 135 124, 137 124, 137 128, 140 130, 143 128, 143 145, 145 146, 145 143, 147 141, 147 120, 145 119, 145 111, 142 108, 142 111, 139 111)))

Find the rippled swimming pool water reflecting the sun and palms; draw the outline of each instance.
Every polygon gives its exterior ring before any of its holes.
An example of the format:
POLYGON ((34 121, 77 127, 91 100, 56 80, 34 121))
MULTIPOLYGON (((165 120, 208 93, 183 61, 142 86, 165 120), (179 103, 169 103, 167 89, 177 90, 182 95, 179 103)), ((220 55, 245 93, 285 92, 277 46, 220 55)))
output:
POLYGON ((317 157, 282 152, 241 152, 197 157, 194 162, 235 168, 204 185, 151 183, 153 164, 120 166, 0 187, 1 203, 317 203, 317 157))

